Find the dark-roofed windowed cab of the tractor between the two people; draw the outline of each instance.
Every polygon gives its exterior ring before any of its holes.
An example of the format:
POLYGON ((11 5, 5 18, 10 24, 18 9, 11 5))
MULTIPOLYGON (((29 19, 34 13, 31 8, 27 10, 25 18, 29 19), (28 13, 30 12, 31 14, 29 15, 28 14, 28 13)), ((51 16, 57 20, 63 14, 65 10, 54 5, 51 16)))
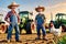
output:
POLYGON ((30 19, 32 13, 30 13, 29 11, 21 11, 19 14, 20 14, 20 19, 23 23, 25 23, 28 20, 32 20, 32 19, 30 19))

